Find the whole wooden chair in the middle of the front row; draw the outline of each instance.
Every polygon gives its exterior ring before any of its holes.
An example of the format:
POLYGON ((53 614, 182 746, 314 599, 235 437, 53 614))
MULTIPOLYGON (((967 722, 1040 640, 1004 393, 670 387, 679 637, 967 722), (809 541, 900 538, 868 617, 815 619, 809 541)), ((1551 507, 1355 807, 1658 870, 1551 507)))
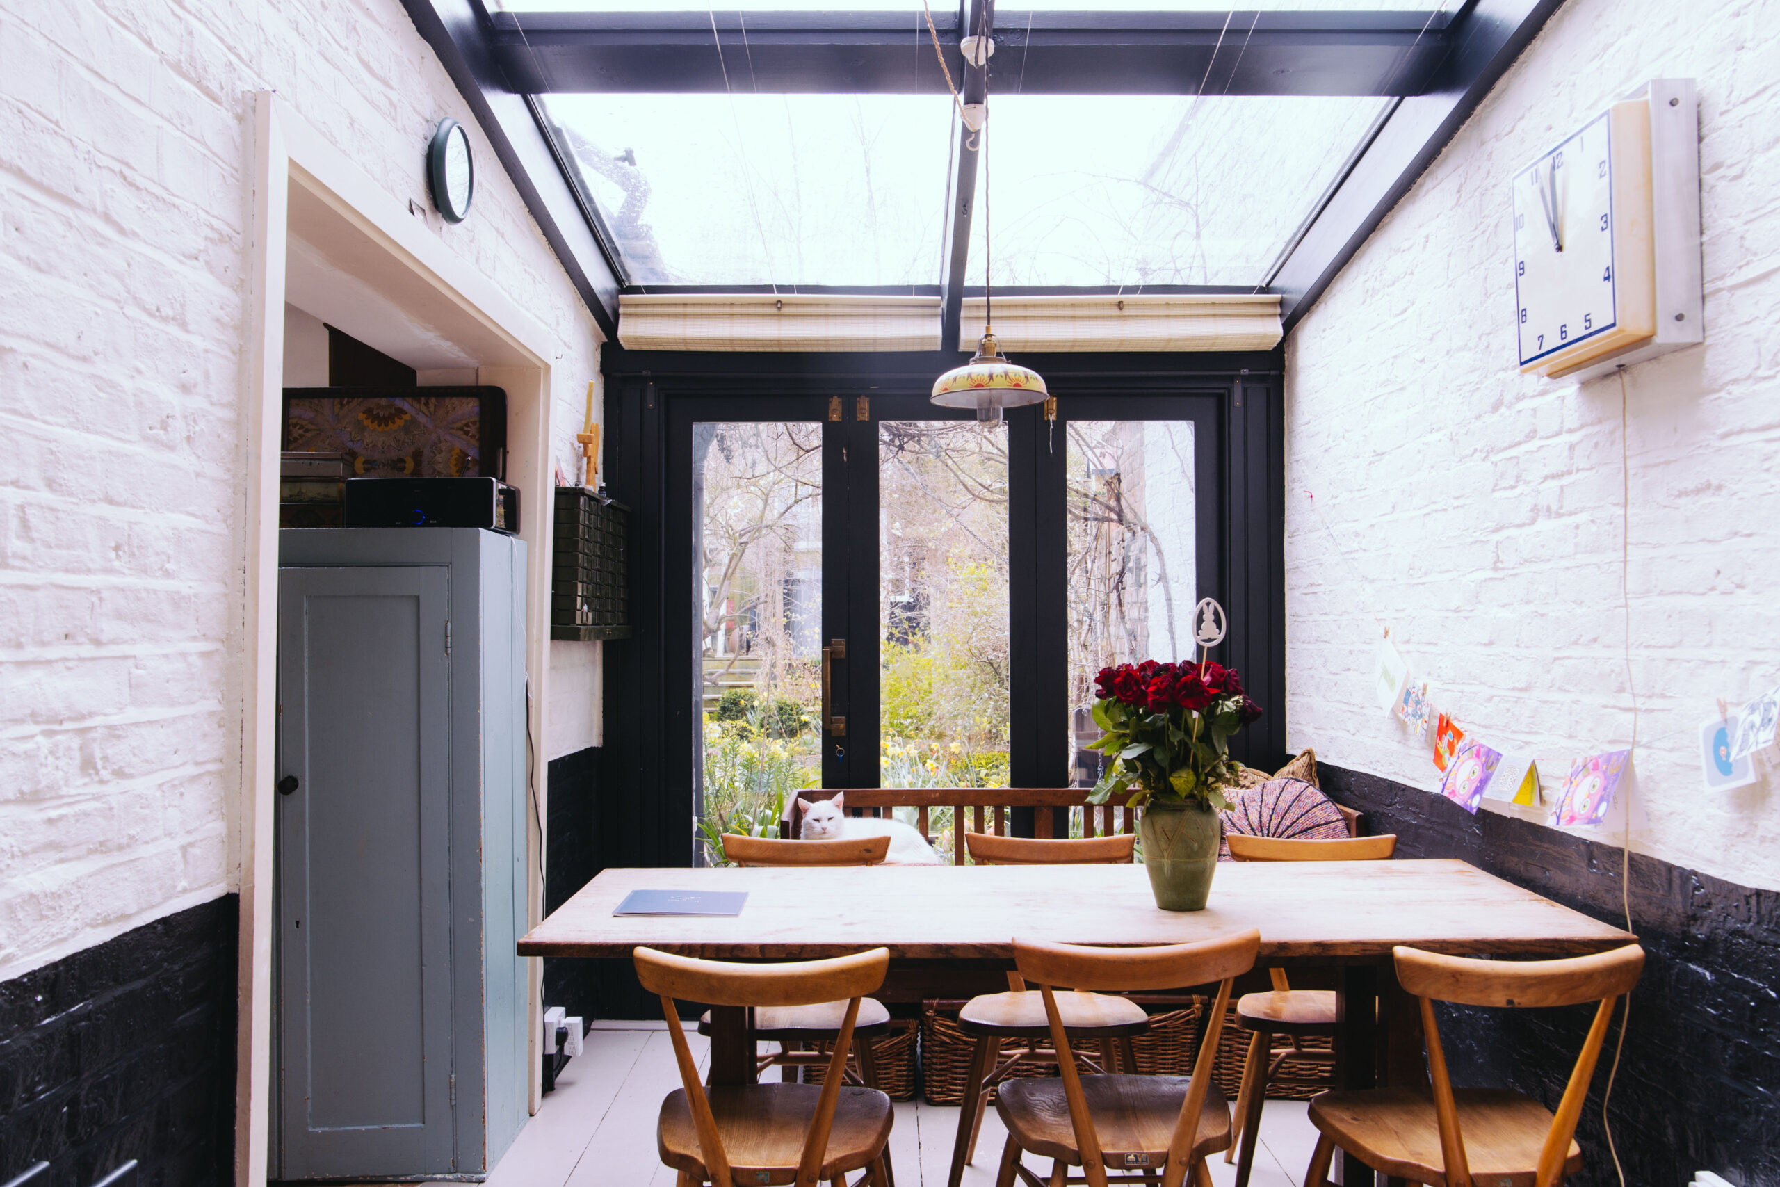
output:
POLYGON ((1230 982, 1255 966, 1260 933, 1255 929, 1153 949, 1089 949, 1073 943, 1013 941, 1020 973, 1038 984, 1057 1050, 1061 1078, 1011 1080, 1002 1084, 995 1110, 1007 1126, 997 1187, 1013 1187, 1015 1176, 1043 1187, 1020 1155, 1031 1151, 1054 1159, 1050 1187, 1111 1182, 1182 1187, 1187 1175, 1196 1187, 1210 1187, 1207 1155, 1230 1144, 1230 1107, 1212 1084, 1218 1039, 1223 1036, 1230 982), (1168 989, 1218 982, 1218 998, 1191 1077, 1089 1075, 1075 1070, 1070 1034, 1057 1004, 1056 986, 1077 989, 1168 989), (1068 1167, 1080 1166, 1082 1178, 1068 1167), (1107 1169, 1125 1171, 1118 1180, 1107 1169))

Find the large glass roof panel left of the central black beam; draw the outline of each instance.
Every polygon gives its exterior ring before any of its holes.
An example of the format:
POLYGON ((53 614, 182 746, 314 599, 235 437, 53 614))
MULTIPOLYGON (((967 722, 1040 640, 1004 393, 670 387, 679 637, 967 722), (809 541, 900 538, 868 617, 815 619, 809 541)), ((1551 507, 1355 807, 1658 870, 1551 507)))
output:
POLYGON ((539 96, 634 285, 938 285, 952 100, 539 96))

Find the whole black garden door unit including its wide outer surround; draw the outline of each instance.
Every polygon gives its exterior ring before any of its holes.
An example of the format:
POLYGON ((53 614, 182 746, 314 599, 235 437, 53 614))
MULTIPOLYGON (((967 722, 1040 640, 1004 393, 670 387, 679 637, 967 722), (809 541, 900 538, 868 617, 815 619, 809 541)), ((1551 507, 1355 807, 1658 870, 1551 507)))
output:
POLYGON ((1187 657, 1205 596, 1266 710, 1237 756, 1283 756, 1278 356, 1031 361, 1054 416, 984 431, 927 400, 931 356, 609 351, 634 637, 605 650, 596 867, 698 861, 717 781, 767 760, 778 785, 1089 783, 1093 673, 1187 657))

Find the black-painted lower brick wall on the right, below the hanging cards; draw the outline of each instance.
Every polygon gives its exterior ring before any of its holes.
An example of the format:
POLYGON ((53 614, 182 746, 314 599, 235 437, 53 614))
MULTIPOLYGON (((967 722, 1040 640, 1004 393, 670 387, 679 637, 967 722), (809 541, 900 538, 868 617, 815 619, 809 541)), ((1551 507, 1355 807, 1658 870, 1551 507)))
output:
MULTIPOLYGON (((1390 779, 1323 765, 1323 788, 1396 833, 1399 858, 1463 858, 1595 918, 1623 925, 1623 851, 1479 812, 1390 779)), ((1780 893, 1737 886, 1655 858, 1630 860, 1632 931, 1648 954, 1630 998, 1609 1116, 1627 1183, 1680 1187, 1714 1171, 1739 1187, 1780 1183, 1780 893)), ((1593 1007, 1444 1007, 1452 1078, 1515 1087, 1556 1107, 1593 1007)), ((1600 1100, 1616 1030, 1595 1075, 1572 1183, 1618 1176, 1600 1100)))

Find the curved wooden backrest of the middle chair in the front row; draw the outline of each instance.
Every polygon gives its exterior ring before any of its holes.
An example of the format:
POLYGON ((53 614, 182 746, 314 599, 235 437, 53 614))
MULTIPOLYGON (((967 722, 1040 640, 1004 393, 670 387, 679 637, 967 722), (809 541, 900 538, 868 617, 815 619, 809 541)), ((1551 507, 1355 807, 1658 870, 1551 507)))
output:
POLYGON ((1230 982, 1255 966, 1260 952, 1260 931, 1248 929, 1216 940, 1196 943, 1169 943, 1148 949, 1096 949, 1077 943, 1013 941, 1013 959, 1020 975, 1036 982, 1045 997, 1045 1016, 1050 1021, 1050 1041, 1057 1050, 1057 1071, 1063 1075, 1063 1096, 1070 1105, 1070 1125, 1075 1130, 1075 1148, 1082 1157, 1082 1175, 1091 1187, 1107 1187, 1105 1160, 1095 1123, 1088 1112, 1088 1096, 1070 1050, 1070 1036, 1063 1029, 1054 989, 1175 989, 1218 982, 1200 1054, 1193 1061, 1193 1078, 1187 1098, 1180 1105, 1175 1134, 1168 1143, 1168 1166, 1162 1167, 1162 1187, 1182 1187, 1198 1143, 1200 1114, 1210 1091, 1212 1066, 1218 1059, 1218 1041, 1223 1038, 1225 1016, 1230 1013, 1230 982))

